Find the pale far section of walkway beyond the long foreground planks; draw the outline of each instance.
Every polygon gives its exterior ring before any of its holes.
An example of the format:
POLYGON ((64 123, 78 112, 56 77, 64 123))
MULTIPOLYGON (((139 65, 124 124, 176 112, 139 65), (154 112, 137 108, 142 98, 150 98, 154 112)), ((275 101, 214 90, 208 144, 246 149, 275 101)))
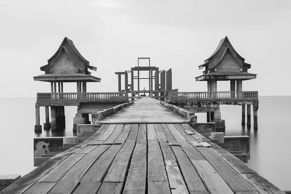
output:
POLYGON ((102 124, 189 123, 160 104, 160 100, 143 97, 132 105, 102 120, 102 124))

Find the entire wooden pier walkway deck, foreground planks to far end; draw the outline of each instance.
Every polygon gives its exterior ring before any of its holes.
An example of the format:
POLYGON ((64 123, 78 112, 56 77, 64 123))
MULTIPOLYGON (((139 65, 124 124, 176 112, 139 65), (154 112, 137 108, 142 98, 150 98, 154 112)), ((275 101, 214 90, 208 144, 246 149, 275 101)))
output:
POLYGON ((284 194, 157 102, 138 99, 1 194, 284 194))

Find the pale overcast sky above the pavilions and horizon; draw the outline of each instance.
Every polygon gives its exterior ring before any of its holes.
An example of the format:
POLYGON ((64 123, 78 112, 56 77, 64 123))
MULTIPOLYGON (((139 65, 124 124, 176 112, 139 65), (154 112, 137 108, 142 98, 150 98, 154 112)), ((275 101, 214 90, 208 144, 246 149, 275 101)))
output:
MULTIPOLYGON (((289 0, 1 0, 0 98, 36 97, 50 92, 39 67, 65 36, 97 67, 100 83, 88 92, 117 91, 116 71, 137 66, 138 57, 173 71, 173 89, 207 91, 195 81, 219 41, 228 36, 251 64, 256 80, 243 90, 291 95, 291 1, 289 0)), ((141 87, 146 87, 141 85, 141 87)), ((229 81, 218 82, 229 91, 229 81)), ((75 84, 64 84, 76 92, 75 84)))

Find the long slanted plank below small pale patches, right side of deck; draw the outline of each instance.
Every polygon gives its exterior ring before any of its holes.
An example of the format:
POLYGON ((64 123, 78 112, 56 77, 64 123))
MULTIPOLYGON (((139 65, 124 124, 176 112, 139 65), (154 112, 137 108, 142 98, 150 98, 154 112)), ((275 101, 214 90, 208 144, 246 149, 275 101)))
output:
POLYGON ((219 175, 226 181, 229 187, 234 192, 256 191, 242 176, 240 176, 234 169, 232 169, 224 160, 222 160, 216 153, 208 148, 196 148, 219 173, 219 175))

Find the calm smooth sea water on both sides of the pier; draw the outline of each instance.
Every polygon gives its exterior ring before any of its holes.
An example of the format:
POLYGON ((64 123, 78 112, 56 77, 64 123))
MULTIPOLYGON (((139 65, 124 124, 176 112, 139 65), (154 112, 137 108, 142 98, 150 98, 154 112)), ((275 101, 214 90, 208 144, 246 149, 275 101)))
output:
MULTIPOLYGON (((35 100, 0 99, 0 175, 24 176, 33 167, 33 138, 74 136, 73 117, 77 107, 65 107, 66 129, 60 132, 34 133, 35 100)), ((282 190, 291 190, 291 96, 259 97, 258 125, 255 131, 242 128, 241 106, 221 106, 226 120, 226 135, 250 136, 251 160, 247 163, 261 176, 282 190)), ((45 110, 41 111, 41 124, 45 110)), ((198 122, 206 122, 206 113, 196 113, 198 122)), ((253 119, 253 117, 252 117, 253 119)), ((253 125, 253 120, 252 120, 253 125)))

